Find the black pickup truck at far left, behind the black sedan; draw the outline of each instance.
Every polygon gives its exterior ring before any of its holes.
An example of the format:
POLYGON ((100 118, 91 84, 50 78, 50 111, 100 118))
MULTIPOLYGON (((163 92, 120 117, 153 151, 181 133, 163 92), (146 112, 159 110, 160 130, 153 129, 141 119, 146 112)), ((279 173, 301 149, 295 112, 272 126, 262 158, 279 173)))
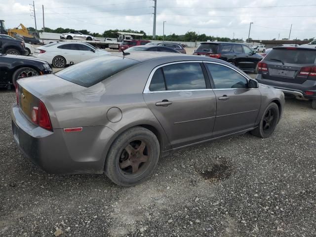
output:
POLYGON ((21 40, 7 39, 0 37, 0 53, 24 55, 25 46, 21 40))

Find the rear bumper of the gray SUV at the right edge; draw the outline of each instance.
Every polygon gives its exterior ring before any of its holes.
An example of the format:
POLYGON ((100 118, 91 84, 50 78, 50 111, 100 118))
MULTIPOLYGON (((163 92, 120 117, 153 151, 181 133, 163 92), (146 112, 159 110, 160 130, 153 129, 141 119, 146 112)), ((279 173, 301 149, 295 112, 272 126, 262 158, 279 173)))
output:
POLYGON ((258 74, 256 80, 259 83, 271 85, 278 90, 283 91, 284 94, 294 95, 297 99, 316 99, 316 81, 306 80, 302 84, 289 83, 284 81, 263 79, 261 74, 258 74), (306 95, 305 91, 312 91, 314 95, 306 95))

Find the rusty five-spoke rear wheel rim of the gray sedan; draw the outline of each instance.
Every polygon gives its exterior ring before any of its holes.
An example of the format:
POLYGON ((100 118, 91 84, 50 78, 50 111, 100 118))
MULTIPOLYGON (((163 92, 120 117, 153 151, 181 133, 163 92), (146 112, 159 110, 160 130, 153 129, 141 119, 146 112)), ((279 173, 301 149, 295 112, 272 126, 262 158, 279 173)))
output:
POLYGON ((135 139, 122 150, 118 166, 124 176, 135 176, 143 173, 150 164, 150 146, 144 139, 135 139))

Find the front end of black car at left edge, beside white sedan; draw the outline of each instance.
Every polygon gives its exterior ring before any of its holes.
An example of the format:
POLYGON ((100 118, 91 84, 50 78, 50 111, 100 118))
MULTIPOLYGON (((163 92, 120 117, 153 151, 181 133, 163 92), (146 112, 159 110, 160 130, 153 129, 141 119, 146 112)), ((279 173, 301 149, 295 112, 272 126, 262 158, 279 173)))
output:
POLYGON ((0 87, 10 89, 21 78, 50 74, 53 70, 46 61, 37 58, 0 53, 0 87))

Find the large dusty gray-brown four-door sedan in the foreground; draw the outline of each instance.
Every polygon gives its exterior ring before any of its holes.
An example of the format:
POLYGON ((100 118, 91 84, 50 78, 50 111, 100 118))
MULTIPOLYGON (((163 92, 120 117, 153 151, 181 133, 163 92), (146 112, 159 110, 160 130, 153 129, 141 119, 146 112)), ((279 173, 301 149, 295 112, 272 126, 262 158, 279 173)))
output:
POLYGON ((229 63, 174 53, 101 56, 17 84, 12 130, 26 157, 121 186, 177 149, 247 131, 267 138, 284 106, 280 90, 229 63))

